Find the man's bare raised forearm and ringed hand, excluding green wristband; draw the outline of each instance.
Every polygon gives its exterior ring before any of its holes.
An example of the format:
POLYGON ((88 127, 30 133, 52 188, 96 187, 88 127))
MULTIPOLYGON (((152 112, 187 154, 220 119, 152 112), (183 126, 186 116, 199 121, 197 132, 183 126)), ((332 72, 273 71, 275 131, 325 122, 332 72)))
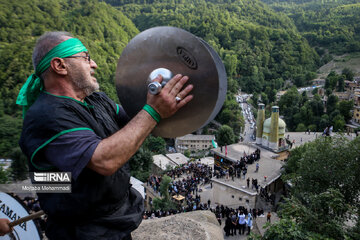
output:
MULTIPOLYGON (((176 75, 166 83, 159 94, 149 93, 147 104, 162 118, 172 116, 193 98, 192 95, 188 95, 193 85, 190 84, 181 90, 188 79, 180 74, 176 75), (176 100, 176 97, 180 100, 176 100)), ((161 83, 162 77, 157 77, 155 81, 161 83)), ((88 167, 104 176, 114 174, 135 154, 156 124, 149 113, 145 110, 140 111, 125 127, 98 144, 88 167)))

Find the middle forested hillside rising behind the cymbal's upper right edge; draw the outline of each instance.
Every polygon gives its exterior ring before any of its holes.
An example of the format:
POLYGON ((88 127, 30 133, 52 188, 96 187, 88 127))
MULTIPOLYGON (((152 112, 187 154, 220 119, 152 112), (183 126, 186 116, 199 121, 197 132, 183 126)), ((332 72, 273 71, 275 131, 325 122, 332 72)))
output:
POLYGON ((205 39, 224 60, 228 77, 247 92, 280 89, 286 80, 303 86, 319 64, 292 21, 258 0, 107 2, 140 31, 170 25, 205 39))

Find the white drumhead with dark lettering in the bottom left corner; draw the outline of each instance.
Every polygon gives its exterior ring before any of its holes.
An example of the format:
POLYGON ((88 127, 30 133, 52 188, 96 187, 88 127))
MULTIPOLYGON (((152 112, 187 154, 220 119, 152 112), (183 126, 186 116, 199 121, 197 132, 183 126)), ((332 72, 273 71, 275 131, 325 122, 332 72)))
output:
MULTIPOLYGON (((29 213, 19 200, 9 194, 0 192, 0 218, 7 218, 11 222, 28 216, 29 213)), ((40 240, 40 231, 34 221, 27 221, 14 227, 14 230, 0 237, 1 240, 40 240)))

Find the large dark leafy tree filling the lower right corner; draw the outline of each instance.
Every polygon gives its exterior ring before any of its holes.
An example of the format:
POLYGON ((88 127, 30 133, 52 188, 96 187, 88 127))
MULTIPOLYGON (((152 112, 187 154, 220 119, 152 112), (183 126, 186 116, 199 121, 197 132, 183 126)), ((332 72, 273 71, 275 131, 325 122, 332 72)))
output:
POLYGON ((292 150, 283 175, 292 185, 290 198, 280 206, 283 220, 296 222, 309 237, 318 235, 315 239, 344 239, 345 222, 360 210, 359 149, 359 137, 349 141, 336 136, 292 150))

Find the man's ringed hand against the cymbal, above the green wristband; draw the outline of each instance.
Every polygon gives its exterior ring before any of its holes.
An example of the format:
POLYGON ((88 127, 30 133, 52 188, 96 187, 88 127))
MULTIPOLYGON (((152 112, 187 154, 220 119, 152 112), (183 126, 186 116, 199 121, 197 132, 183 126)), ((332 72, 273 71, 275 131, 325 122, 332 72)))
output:
MULTIPOLYGON (((181 90, 188 80, 187 76, 177 74, 166 83, 159 94, 152 95, 148 93, 147 104, 153 107, 160 114, 161 118, 171 117, 193 98, 192 95, 188 95, 193 89, 193 85, 190 84, 181 90), (180 100, 176 100, 176 97, 180 98, 180 100)), ((154 81, 161 83, 162 76, 159 75, 154 81)))

